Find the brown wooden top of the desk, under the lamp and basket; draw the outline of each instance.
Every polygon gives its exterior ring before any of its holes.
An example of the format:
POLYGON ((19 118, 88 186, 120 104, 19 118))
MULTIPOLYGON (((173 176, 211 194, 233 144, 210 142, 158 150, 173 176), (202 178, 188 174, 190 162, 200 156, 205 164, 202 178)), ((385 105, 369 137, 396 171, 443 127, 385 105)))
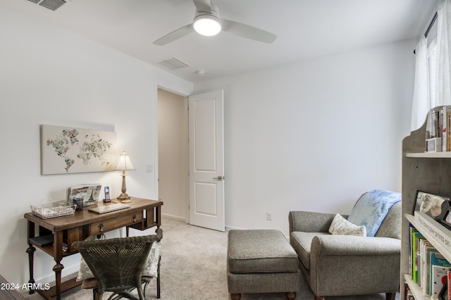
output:
MULTIPOLYGON (((33 223, 42 226, 44 228, 47 228, 48 230, 52 231, 61 231, 61 230, 67 230, 68 228, 73 227, 79 227, 82 225, 92 224, 94 222, 99 222, 101 220, 106 220, 109 218, 116 218, 118 215, 121 215, 123 213, 132 213, 135 211, 142 211, 144 209, 148 208, 154 208, 156 206, 161 206, 163 204, 162 201, 155 201, 155 200, 149 200, 149 199, 142 199, 142 198, 131 198, 131 202, 128 203, 130 205, 130 208, 124 208, 120 211, 111 211, 110 213, 92 213, 91 211, 88 211, 89 208, 95 207, 95 206, 102 206, 102 205, 108 205, 104 204, 103 202, 99 202, 99 204, 94 204, 92 206, 86 206, 80 211, 75 211, 74 215, 64 215, 61 217, 56 218, 49 218, 49 219, 43 219, 39 218, 37 215, 33 213, 25 213, 24 218, 27 220, 32 221, 33 223)), ((117 199, 112 199, 112 202, 118 202, 117 199)))

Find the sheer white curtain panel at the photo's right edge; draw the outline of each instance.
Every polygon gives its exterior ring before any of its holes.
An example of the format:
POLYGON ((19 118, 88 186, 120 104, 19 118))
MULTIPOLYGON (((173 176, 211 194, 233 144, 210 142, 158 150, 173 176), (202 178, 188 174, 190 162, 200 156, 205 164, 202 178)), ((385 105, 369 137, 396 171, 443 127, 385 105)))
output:
POLYGON ((437 60, 435 63, 435 103, 451 105, 451 0, 442 0, 437 11, 437 60))

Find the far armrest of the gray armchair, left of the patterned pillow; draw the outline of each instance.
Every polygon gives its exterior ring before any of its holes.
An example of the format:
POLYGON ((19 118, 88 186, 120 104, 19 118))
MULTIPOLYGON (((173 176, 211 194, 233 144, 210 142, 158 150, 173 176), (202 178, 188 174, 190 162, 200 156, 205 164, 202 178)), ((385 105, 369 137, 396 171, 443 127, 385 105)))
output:
MULTIPOLYGON (((330 224, 336 213, 314 213, 311 211, 290 211, 288 223, 290 233, 302 232, 328 232, 330 224)), ((347 215, 343 215, 347 218, 347 215)))

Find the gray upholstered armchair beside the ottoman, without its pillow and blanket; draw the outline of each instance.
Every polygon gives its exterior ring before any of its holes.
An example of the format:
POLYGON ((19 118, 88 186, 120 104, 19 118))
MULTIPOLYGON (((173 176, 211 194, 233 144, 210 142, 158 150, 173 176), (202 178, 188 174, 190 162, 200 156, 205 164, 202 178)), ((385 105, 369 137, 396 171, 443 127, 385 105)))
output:
POLYGON ((390 206, 374 237, 331 235, 334 217, 307 211, 289 214, 290 244, 315 299, 376 293, 395 299, 400 288, 401 202, 390 206))

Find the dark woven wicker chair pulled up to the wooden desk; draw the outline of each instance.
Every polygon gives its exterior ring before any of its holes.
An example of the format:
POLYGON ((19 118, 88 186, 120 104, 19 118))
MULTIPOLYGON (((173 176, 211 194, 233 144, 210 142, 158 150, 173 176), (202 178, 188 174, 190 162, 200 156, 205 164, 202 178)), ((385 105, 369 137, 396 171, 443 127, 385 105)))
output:
POLYGON ((87 284, 83 282, 85 286, 82 287, 93 288, 95 300, 100 300, 104 292, 113 292, 109 299, 116 295, 137 299, 130 292, 134 288, 137 289, 139 299, 145 299, 144 292, 149 278, 142 277, 142 270, 152 244, 159 242, 162 237, 163 233, 159 228, 156 235, 87 239, 73 243, 74 249, 80 251, 95 277, 95 280, 90 280, 87 284))

